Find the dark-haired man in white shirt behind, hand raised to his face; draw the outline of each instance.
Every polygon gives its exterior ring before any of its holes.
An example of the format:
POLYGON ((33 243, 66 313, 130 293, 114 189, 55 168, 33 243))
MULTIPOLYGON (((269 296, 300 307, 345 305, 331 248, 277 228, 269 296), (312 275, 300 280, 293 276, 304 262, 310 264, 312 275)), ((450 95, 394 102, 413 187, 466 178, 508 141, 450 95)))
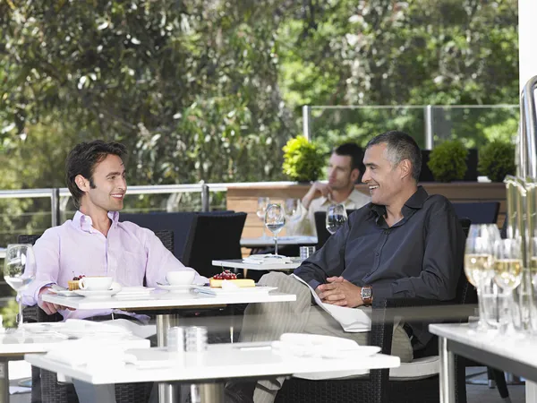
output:
POLYGON ((298 203, 294 219, 287 223, 289 235, 316 236, 315 211, 326 211, 332 203, 342 203, 346 210, 356 210, 371 201, 354 189, 364 168, 362 148, 354 142, 341 144, 332 151, 328 162, 328 184, 315 182, 298 203))

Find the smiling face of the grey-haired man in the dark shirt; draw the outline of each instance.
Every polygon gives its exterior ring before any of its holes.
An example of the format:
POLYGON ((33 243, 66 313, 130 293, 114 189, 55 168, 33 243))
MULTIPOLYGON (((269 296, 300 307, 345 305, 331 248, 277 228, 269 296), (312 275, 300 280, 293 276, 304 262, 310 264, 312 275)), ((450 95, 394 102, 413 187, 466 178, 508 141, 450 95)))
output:
POLYGON ((394 167, 388 159, 387 147, 386 143, 372 145, 363 157, 365 173, 362 182, 369 185, 371 201, 383 206, 396 201, 405 177, 400 164, 394 167))

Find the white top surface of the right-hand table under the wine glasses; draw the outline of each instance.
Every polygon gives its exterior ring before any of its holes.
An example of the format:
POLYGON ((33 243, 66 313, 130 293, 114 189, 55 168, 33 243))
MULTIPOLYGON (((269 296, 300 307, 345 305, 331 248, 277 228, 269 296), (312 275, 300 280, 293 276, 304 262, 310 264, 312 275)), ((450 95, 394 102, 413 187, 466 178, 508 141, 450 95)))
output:
POLYGON ((431 324, 429 330, 439 337, 537 368, 537 348, 535 348, 537 338, 535 337, 500 337, 495 332, 477 332, 470 329, 467 323, 431 324))

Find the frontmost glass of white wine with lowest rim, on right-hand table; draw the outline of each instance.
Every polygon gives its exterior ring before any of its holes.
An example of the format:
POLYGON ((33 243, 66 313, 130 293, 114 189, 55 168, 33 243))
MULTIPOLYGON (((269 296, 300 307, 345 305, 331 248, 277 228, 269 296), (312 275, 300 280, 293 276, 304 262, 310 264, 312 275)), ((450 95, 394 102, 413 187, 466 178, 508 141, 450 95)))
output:
MULTIPOLYGON (((499 330, 512 330, 513 290, 522 279, 522 240, 499 239, 494 243, 494 281, 501 288, 499 294, 499 330)), ((510 331, 512 333, 512 331, 510 331)))

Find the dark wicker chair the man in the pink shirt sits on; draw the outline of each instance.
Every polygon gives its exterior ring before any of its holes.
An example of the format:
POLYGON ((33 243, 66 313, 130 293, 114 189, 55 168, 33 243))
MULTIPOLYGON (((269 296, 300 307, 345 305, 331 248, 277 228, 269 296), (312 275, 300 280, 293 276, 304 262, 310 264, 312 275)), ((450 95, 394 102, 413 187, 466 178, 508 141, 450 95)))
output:
MULTIPOLYGON (((174 231, 158 230, 155 235, 161 240, 166 248, 174 253, 174 231)), ((39 236, 19 236, 21 244, 34 244, 39 236)), ((61 314, 47 315, 38 305, 28 306, 24 309, 26 322, 60 322, 64 318, 61 314)), ((31 367, 32 390, 31 402, 54 402, 74 403, 78 398, 74 387, 70 383, 60 383, 57 374, 37 367, 31 367)), ((145 403, 149 400, 149 394, 153 388, 153 382, 117 383, 115 384, 115 400, 117 403, 145 403)))

